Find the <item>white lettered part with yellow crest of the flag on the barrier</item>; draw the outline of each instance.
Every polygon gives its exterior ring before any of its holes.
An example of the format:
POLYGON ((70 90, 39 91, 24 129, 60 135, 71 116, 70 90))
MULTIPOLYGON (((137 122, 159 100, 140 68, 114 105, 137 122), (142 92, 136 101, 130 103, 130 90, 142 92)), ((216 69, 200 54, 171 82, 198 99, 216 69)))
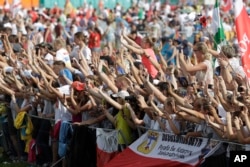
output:
POLYGON ((203 158, 207 145, 206 138, 186 139, 184 136, 149 130, 129 148, 144 157, 178 161, 195 166, 203 158))

